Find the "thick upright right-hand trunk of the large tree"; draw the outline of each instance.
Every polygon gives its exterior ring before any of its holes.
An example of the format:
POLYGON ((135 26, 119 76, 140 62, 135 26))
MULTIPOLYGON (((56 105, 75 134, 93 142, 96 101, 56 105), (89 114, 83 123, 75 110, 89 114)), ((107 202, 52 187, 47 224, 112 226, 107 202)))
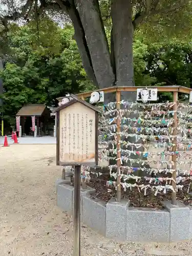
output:
MULTIPOLYGON (((112 56, 115 56, 116 85, 135 86, 133 68, 133 34, 132 1, 112 0, 112 56), (123 8, 122 8, 123 6, 123 8)), ((122 98, 130 101, 136 100, 135 93, 123 93, 122 98)))

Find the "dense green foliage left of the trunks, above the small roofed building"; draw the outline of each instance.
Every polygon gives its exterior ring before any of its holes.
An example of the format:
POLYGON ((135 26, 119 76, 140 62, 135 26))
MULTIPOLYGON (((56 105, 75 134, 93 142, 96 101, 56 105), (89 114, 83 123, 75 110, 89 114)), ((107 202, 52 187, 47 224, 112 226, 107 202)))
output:
POLYGON ((14 115, 25 103, 56 105, 56 98, 94 87, 87 79, 73 28, 59 28, 49 19, 41 19, 37 35, 35 22, 9 31, 9 51, 2 72, 4 117, 14 115))

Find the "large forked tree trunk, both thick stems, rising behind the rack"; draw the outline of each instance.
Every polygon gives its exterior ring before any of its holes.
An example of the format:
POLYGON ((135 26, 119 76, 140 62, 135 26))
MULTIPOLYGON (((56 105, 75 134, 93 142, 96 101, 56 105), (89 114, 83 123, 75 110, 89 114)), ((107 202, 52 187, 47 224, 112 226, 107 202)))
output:
MULTIPOLYGON (((83 67, 100 89, 134 86, 131 0, 112 0, 111 53, 104 31, 98 0, 71 0, 69 15, 75 29, 83 67), (122 8, 123 6, 123 8, 122 8)), ((121 99, 136 100, 136 93, 122 92, 121 99)), ((105 95, 105 103, 114 100, 105 95)))

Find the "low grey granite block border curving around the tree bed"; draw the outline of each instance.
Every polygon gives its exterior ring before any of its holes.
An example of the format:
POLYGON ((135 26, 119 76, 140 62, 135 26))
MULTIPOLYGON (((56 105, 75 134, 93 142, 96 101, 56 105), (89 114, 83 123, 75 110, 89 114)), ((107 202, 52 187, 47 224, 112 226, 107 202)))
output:
MULTIPOLYGON (((73 215, 73 187, 56 182, 57 206, 73 215)), ((104 203, 93 199, 95 190, 81 189, 81 222, 104 237, 129 242, 180 242, 192 239, 192 206, 163 202, 159 210, 130 207, 129 201, 104 203)))

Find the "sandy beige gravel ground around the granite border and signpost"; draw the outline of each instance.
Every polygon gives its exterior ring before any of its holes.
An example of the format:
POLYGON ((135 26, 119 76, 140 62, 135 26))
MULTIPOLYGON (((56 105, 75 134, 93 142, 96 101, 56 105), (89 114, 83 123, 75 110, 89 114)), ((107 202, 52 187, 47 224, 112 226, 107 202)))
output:
MULTIPOLYGON (((72 255, 72 220, 56 206, 56 146, 0 147, 0 255, 72 255)), ((81 227, 81 256, 192 255, 192 243, 116 243, 81 227)))

